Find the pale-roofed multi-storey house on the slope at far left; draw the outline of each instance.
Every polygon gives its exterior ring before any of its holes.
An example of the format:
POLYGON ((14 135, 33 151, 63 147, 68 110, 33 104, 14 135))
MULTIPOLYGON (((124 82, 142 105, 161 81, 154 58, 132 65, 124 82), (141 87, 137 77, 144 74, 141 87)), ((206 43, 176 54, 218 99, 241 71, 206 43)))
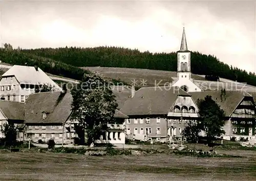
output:
POLYGON ((35 88, 43 84, 61 90, 39 67, 13 65, 2 75, 0 80, 0 97, 8 101, 25 102, 28 96, 35 93, 35 88))

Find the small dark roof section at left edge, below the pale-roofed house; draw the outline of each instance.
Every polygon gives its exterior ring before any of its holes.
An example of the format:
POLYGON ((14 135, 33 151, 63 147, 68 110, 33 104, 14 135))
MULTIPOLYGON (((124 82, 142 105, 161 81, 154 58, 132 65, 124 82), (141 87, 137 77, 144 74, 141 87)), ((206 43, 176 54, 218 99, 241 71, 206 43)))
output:
POLYGON ((9 120, 24 120, 24 103, 0 101, 0 109, 9 120))

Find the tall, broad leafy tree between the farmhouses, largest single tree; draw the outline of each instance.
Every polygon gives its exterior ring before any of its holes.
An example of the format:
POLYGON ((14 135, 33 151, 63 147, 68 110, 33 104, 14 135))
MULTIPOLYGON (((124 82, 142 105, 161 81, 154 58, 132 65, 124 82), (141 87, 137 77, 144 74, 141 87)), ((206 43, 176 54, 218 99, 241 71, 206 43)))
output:
POLYGON ((113 122, 117 102, 108 79, 98 74, 85 75, 79 88, 72 89, 72 117, 82 126, 89 145, 93 145, 113 122))

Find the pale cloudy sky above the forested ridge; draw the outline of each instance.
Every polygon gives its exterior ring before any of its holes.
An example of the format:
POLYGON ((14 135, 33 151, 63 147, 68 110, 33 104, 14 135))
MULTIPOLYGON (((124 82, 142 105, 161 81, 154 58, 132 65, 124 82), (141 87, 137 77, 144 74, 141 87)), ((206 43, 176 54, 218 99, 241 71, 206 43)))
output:
POLYGON ((255 1, 4 1, 1 43, 23 49, 120 46, 188 49, 256 72, 255 1))

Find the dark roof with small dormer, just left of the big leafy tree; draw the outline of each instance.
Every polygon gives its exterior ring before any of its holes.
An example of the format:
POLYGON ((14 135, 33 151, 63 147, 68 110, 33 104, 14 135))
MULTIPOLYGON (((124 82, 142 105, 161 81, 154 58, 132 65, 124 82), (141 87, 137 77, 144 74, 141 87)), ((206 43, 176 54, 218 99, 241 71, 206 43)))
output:
POLYGON ((71 115, 72 95, 67 92, 60 98, 61 92, 31 94, 25 103, 25 122, 64 123, 71 115), (47 113, 46 119, 42 112, 47 113))

